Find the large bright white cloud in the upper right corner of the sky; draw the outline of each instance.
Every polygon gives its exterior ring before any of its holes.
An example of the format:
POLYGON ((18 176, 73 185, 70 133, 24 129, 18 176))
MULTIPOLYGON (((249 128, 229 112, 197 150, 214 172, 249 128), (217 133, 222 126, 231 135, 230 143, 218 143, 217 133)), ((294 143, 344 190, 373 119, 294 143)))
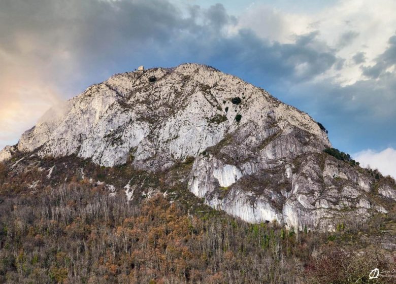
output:
POLYGON ((394 0, 343 0, 333 6, 323 5, 315 12, 286 12, 257 4, 239 15, 234 29, 249 28, 263 39, 280 43, 293 42, 293 35, 319 30, 318 39, 336 49, 336 55, 345 59, 345 64, 317 79, 331 79, 345 86, 365 79, 360 64, 353 60, 357 52, 365 52, 366 64, 370 65, 387 48, 387 41, 395 32, 395 10, 394 0), (345 42, 343 35, 348 32, 355 36, 345 42))

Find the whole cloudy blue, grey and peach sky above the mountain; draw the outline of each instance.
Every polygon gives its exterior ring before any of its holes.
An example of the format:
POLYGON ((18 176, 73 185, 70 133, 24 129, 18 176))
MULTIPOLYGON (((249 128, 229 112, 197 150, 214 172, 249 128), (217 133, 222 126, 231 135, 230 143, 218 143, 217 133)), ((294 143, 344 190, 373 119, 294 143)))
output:
POLYGON ((52 105, 139 65, 211 65, 396 177, 396 2, 2 0, 0 148, 52 105))

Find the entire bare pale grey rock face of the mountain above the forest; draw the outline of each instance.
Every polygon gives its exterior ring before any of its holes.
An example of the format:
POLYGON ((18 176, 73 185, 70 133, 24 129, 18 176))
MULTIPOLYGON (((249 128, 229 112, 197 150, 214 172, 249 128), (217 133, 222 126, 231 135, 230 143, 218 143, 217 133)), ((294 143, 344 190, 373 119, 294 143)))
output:
MULTIPOLYGON (((306 113, 198 64, 92 85, 48 111, 17 145, 40 157, 74 154, 149 171, 194 157, 188 189, 248 222, 332 230, 336 219, 386 212, 369 197, 370 177, 323 154, 327 147, 306 113)), ((392 190, 380 194, 392 198, 392 190)))

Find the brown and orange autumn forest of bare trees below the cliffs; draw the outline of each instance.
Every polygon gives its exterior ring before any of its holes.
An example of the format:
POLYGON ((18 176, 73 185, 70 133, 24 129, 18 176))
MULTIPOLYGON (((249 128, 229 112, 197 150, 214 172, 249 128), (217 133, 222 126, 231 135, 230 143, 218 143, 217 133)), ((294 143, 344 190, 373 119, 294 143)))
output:
POLYGON ((361 241, 386 220, 334 233, 248 224, 163 194, 128 204, 84 180, 0 195, 0 282, 392 283, 389 253, 361 241))

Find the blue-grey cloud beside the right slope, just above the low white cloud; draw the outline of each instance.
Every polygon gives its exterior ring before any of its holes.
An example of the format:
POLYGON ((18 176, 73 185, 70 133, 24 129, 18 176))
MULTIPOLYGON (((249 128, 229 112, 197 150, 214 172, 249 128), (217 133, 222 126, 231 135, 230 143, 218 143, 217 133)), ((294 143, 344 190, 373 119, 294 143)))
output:
POLYGON ((345 87, 328 80, 294 85, 286 100, 318 119, 336 148, 353 153, 359 148, 396 147, 395 89, 394 75, 345 87))

